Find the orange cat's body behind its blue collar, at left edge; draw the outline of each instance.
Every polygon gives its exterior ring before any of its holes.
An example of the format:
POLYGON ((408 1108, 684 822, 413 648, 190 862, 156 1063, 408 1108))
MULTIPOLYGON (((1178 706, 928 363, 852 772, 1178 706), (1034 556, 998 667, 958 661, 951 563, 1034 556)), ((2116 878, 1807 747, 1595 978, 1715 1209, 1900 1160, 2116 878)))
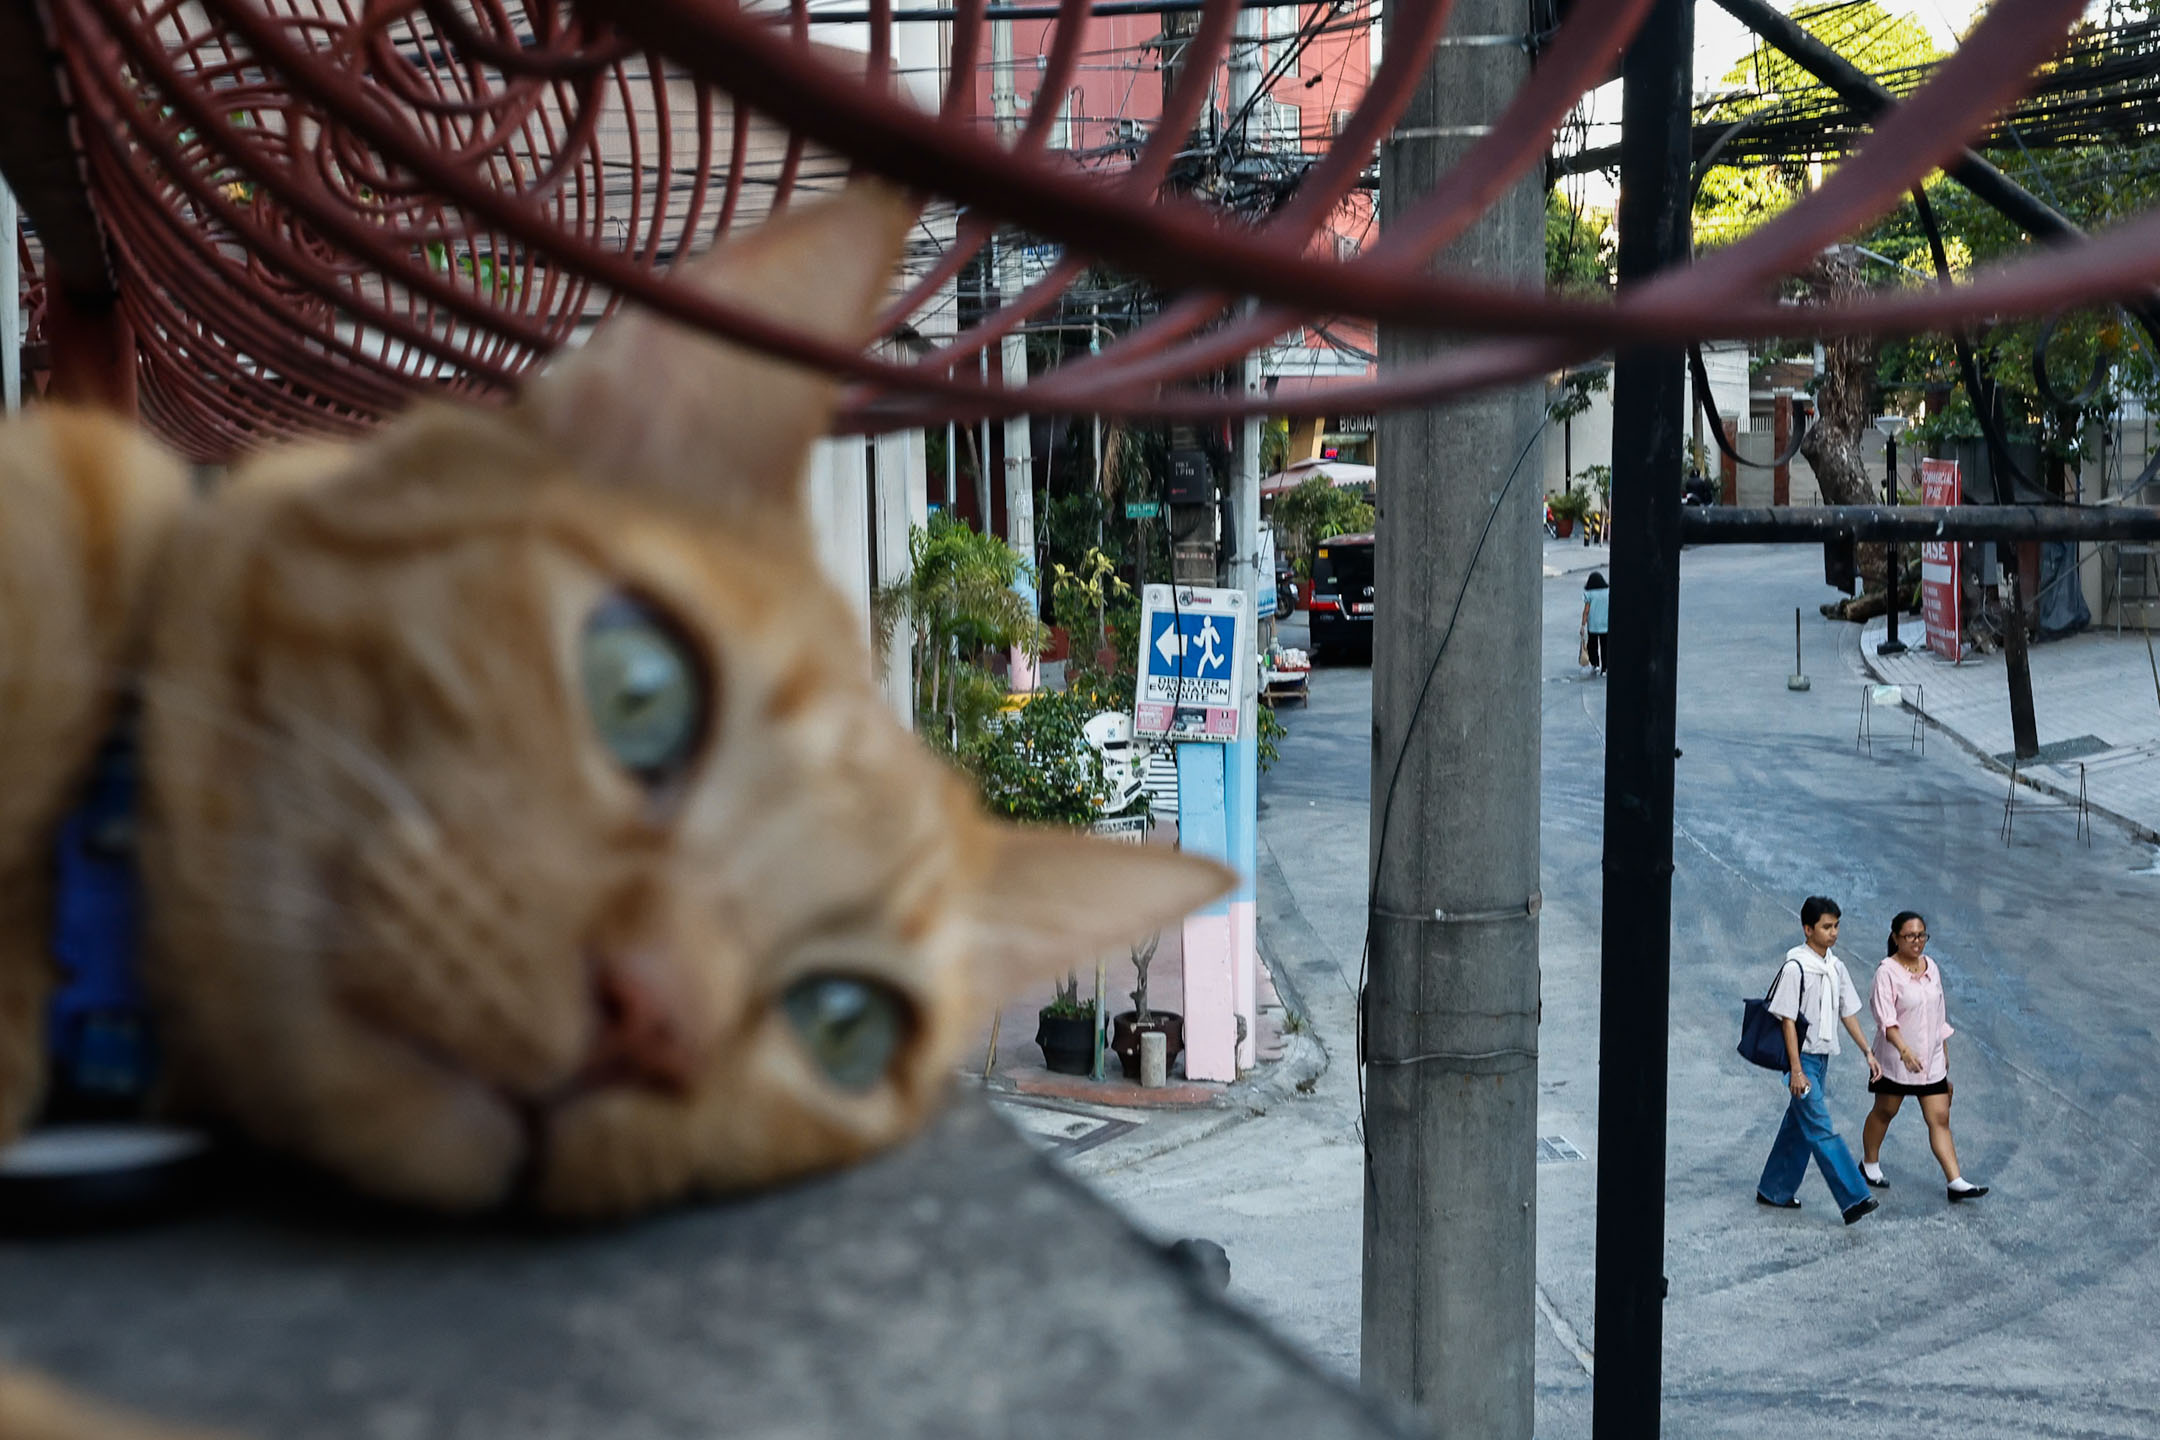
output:
POLYGON ((0 1144, 45 1079, 52 831, 106 728, 186 473, 127 425, 0 425, 0 1144))

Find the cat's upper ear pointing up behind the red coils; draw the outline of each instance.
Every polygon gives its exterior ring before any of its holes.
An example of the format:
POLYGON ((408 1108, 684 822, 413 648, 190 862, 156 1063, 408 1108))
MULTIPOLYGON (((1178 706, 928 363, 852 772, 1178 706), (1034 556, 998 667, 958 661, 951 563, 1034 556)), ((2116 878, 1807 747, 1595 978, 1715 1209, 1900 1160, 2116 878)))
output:
MULTIPOLYGON (((855 181, 676 276, 795 330, 862 345, 914 218, 899 190, 855 181)), ((838 389, 819 371, 624 311, 527 384, 521 406, 594 481, 799 514, 804 462, 838 389)))

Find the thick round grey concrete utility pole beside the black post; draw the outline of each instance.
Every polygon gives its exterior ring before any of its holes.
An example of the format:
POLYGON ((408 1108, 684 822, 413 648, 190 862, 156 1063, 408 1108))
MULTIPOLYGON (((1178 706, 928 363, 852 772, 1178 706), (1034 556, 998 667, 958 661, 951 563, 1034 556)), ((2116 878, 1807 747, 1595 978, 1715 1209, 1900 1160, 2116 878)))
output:
MULTIPOLYGON (((1382 229, 1523 84, 1529 11, 1458 0, 1380 151, 1382 229)), ((1441 257, 1493 285, 1542 261, 1536 177, 1441 257)), ((1380 369, 1449 343, 1382 324, 1380 369)), ((1542 406, 1514 386, 1378 430, 1363 1377, 1480 1440, 1534 1418, 1542 406)))

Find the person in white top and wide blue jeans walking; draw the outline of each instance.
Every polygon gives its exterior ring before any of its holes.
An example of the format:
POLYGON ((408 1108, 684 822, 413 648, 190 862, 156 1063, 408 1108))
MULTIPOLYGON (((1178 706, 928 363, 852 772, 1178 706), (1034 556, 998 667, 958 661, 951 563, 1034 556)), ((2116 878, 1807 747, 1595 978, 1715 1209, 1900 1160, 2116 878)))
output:
POLYGON ((1830 1120, 1830 1058, 1840 1054, 1838 1025, 1853 1036, 1853 1045, 1868 1062, 1868 1079, 1881 1077, 1881 1067, 1860 1034, 1860 991, 1845 961, 1832 950, 1838 941, 1840 911, 1827 896, 1808 896, 1799 907, 1799 926, 1806 943, 1784 952, 1778 967, 1778 984, 1769 993, 1769 1013, 1784 1021, 1784 1054, 1791 1062, 1786 1090, 1791 1101, 1784 1108, 1784 1125, 1763 1161, 1763 1179, 1756 1181, 1756 1205, 1773 1209, 1799 1209, 1799 1181, 1808 1174, 1808 1155, 1830 1183, 1830 1194, 1838 1200, 1845 1224, 1875 1211, 1879 1200, 1868 1194, 1853 1153, 1838 1138, 1838 1127, 1830 1120), (1799 1032, 1806 1021, 1806 1034, 1799 1032))

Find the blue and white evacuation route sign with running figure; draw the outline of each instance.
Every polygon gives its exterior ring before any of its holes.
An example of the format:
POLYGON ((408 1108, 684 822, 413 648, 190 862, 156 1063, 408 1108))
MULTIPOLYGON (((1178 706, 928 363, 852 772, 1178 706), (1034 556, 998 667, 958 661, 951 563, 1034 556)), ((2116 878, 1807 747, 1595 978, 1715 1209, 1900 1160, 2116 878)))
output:
POLYGON ((1236 741, 1244 699, 1238 658, 1251 643, 1242 589, 1145 587, 1132 728, 1171 741, 1236 741))

